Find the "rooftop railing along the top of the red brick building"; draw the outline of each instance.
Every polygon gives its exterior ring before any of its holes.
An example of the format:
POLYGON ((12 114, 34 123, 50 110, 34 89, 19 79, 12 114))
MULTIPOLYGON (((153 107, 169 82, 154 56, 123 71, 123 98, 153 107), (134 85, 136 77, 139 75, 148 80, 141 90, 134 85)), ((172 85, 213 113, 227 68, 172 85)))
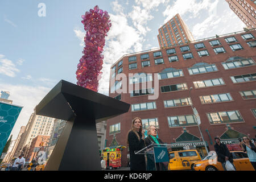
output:
MULTIPOLYGON (((251 28, 251 29, 248 29, 248 30, 243 30, 243 31, 238 31, 238 32, 232 32, 232 33, 229 33, 229 34, 216 35, 216 36, 212 36, 212 37, 209 37, 209 38, 204 38, 204 39, 198 39, 198 40, 189 41, 189 42, 186 42, 186 43, 174 44, 174 45, 172 45, 172 46, 162 47, 162 49, 173 48, 173 47, 176 47, 176 46, 181 46, 181 45, 189 44, 189 43, 201 42, 201 41, 209 40, 209 39, 222 38, 222 37, 224 37, 224 36, 235 35, 235 34, 241 34, 241 33, 243 33, 243 32, 254 31, 254 30, 256 30, 256 28, 251 28)), ((138 53, 143 53, 143 52, 152 52, 152 51, 156 51, 156 50, 160 50, 160 49, 161 49, 161 48, 159 47, 159 48, 154 48, 154 49, 148 49, 148 50, 146 50, 146 51, 139 51, 139 52, 127 53, 126 55, 123 55, 121 58, 119 58, 117 61, 115 61, 115 63, 112 64, 111 67, 113 67, 113 65, 117 64, 119 61, 121 61, 121 60, 123 59, 123 57, 131 56, 131 55, 137 55, 138 53)))

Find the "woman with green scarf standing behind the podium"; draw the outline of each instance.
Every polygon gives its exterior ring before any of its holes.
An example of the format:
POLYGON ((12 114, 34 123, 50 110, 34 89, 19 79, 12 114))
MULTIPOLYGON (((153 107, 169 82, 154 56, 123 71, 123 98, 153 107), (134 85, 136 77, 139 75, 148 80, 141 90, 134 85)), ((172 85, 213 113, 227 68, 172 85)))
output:
MULTIPOLYGON (((154 125, 148 126, 147 129, 148 137, 145 138, 145 145, 149 146, 150 144, 163 144, 162 140, 156 138, 158 135, 156 127, 154 125)), ((167 167, 164 163, 155 163, 154 154, 147 154, 147 171, 166 171, 167 167), (156 169, 155 169, 156 167, 156 169)))

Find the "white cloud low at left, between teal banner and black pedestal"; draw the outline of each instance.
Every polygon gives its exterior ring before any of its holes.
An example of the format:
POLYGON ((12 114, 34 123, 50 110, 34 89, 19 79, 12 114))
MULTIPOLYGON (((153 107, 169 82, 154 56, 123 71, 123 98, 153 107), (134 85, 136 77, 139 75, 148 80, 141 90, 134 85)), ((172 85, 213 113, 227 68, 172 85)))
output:
POLYGON ((27 85, 13 85, 0 82, 1 89, 10 92, 9 100, 13 101, 13 104, 23 106, 22 111, 14 125, 13 139, 18 136, 21 126, 26 126, 30 115, 34 112, 34 108, 49 92, 50 88, 44 86, 27 86, 27 85))

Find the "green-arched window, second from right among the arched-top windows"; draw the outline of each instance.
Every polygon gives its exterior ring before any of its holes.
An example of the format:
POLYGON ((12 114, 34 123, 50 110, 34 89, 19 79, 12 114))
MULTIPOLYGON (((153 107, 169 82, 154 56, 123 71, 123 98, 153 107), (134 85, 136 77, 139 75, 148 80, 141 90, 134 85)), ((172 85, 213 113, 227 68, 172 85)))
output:
POLYGON ((215 64, 197 63, 192 68, 188 68, 189 75, 218 71, 215 64))

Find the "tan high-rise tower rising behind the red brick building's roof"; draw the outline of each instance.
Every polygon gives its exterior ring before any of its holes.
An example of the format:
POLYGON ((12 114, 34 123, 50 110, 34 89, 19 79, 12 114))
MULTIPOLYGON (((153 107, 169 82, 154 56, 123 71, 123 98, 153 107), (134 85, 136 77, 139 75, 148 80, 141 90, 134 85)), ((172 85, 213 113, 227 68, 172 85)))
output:
POLYGON ((173 46, 194 40, 193 35, 179 14, 176 14, 160 27, 158 32, 158 43, 160 47, 173 46))

